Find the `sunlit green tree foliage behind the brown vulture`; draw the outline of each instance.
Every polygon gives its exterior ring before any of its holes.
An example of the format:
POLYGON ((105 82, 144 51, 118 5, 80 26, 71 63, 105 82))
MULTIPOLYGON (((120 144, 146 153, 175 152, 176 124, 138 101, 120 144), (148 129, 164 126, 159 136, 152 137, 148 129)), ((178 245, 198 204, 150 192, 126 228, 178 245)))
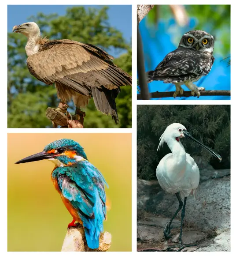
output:
MULTIPOLYGON (((36 22, 41 34, 50 39, 72 39, 97 45, 107 52, 111 49, 125 52, 115 59, 114 63, 131 75, 131 45, 125 42, 122 32, 109 25, 107 7, 73 7, 67 8, 64 16, 38 13, 36 17, 32 16, 28 20, 36 22)), ((26 21, 22 21, 24 22, 26 21)), ((8 34, 8 127, 52 127, 45 111, 47 107, 57 107, 59 100, 56 97, 56 89, 30 75, 26 66, 25 45, 26 37, 22 34, 8 34)), ((131 87, 121 89, 116 99, 120 126, 114 124, 111 116, 97 111, 91 99, 87 108, 82 109, 86 112, 85 127, 131 127, 131 87)), ((69 111, 73 112, 73 102, 69 105, 69 111)))

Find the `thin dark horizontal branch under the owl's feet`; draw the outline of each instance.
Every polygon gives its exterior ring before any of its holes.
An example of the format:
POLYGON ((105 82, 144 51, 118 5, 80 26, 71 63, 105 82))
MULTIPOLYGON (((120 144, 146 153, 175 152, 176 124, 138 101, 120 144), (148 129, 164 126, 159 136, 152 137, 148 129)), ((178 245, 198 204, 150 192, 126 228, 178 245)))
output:
MULTIPOLYGON (((151 98, 173 98, 174 91, 152 92, 151 98)), ((191 91, 184 91, 182 97, 191 97, 191 91)), ((230 96, 230 90, 203 90, 201 96, 230 96)), ((201 97, 200 96, 200 97, 201 97)), ((178 97, 178 96, 177 96, 178 97)), ((193 97, 193 96, 192 96, 193 97)), ((137 94, 137 99, 141 100, 141 94, 137 94)))

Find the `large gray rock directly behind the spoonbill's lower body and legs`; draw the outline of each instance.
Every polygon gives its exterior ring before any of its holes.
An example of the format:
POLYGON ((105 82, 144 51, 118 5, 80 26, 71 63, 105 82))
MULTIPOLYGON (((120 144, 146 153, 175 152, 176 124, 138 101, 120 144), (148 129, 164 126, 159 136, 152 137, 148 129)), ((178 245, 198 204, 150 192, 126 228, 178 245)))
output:
MULTIPOLYGON (((175 195, 162 190, 158 181, 137 183, 137 209, 171 218, 178 208, 175 195)), ((177 218, 181 218, 181 213, 177 218)), ((196 199, 189 196, 185 221, 202 231, 221 233, 230 227, 230 176, 208 179, 199 184, 196 199)))

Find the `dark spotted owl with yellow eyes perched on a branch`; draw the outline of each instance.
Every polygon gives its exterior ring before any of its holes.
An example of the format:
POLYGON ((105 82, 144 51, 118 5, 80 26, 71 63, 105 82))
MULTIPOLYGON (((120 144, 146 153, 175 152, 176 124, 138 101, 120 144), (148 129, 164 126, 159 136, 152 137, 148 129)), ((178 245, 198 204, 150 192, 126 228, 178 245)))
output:
POLYGON ((173 97, 182 96, 186 85, 192 96, 200 96, 204 87, 197 87, 193 82, 207 75, 214 63, 214 37, 202 30, 185 33, 176 50, 168 53, 153 71, 147 72, 147 83, 163 81, 173 83, 176 91, 173 97))

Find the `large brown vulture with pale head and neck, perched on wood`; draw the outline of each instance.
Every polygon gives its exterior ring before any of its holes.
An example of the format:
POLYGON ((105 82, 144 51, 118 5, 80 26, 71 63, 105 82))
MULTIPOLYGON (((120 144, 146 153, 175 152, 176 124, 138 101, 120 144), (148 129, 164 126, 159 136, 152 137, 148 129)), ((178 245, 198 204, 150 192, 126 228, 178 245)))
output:
POLYGON ((111 61, 111 55, 95 45, 43 38, 34 22, 14 26, 13 32, 28 38, 25 49, 30 74, 48 85, 55 83, 63 104, 72 98, 80 109, 92 97, 97 110, 119 123, 115 99, 121 86, 131 86, 132 78, 111 61))

